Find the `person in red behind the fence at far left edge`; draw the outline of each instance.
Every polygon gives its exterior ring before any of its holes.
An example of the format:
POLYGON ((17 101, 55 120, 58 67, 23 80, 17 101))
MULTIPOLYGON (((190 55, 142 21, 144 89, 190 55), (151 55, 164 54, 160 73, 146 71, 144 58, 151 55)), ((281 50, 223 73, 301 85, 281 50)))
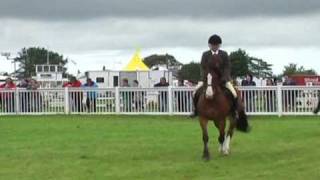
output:
POLYGON ((0 93, 0 104, 4 105, 6 112, 15 112, 15 95, 10 91, 14 89, 16 89, 16 84, 11 78, 7 78, 6 82, 0 85, 0 90, 4 90, 0 93))

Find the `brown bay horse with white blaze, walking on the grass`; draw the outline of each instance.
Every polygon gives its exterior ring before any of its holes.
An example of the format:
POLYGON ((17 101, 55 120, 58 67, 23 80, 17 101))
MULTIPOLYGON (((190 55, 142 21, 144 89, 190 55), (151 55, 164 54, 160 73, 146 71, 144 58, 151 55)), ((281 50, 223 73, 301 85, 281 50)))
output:
MULTIPOLYGON (((202 88, 196 92, 199 98, 196 103, 196 108, 198 110, 199 122, 202 129, 204 144, 202 157, 204 160, 210 159, 207 128, 210 120, 213 120, 214 125, 219 130, 219 151, 223 155, 228 155, 230 153, 230 140, 233 136, 235 127, 243 132, 249 131, 243 103, 240 101, 240 98, 238 98, 241 107, 237 107, 236 109, 231 92, 224 88, 224 85, 220 80, 221 71, 219 70, 219 65, 221 64, 221 61, 222 59, 219 55, 213 55, 212 61, 210 61, 206 69, 204 69, 205 77, 207 77, 206 81, 202 88), (227 118, 230 120, 230 123, 226 134, 225 127, 227 118)), ((239 92, 238 97, 240 97, 239 92)))

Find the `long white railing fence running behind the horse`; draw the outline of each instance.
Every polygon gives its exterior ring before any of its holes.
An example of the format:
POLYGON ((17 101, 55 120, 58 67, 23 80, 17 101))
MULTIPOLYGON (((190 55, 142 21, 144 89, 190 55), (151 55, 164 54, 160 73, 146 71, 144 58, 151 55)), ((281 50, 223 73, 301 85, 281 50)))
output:
MULTIPOLYGON (((190 87, 0 90, 0 115, 167 114, 192 112, 190 87)), ((310 115, 320 87, 239 87, 250 115, 310 115)))

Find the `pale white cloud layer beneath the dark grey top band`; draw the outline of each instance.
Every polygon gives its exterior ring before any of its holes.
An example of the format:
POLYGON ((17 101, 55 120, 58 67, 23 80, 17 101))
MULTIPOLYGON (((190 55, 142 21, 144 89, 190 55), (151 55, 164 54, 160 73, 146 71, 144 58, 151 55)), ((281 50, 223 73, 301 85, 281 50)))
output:
MULTIPOLYGON (((100 18, 55 22, 4 19, 0 21, 0 51, 49 47, 77 61, 77 66, 84 71, 101 69, 114 61, 125 64, 137 47, 145 50, 145 56, 170 53, 182 62, 197 61, 207 49, 208 37, 217 33, 222 36, 227 50, 248 50, 249 54, 269 60, 279 73, 283 64, 294 59, 319 57, 316 48, 320 45, 319 22, 320 14, 212 21, 199 18, 100 18)), ((8 64, 1 66, 0 71, 8 68, 8 64)), ((315 69, 319 71, 320 68, 315 69)))

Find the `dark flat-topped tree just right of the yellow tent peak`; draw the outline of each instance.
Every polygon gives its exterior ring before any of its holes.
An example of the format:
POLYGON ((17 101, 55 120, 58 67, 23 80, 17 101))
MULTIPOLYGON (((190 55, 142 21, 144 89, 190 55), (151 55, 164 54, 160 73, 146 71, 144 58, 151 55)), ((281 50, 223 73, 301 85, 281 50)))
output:
POLYGON ((156 65, 166 65, 167 69, 171 67, 181 66, 182 63, 176 60, 176 58, 172 55, 165 54, 165 55, 150 55, 143 59, 143 62, 149 67, 152 68, 156 65))

